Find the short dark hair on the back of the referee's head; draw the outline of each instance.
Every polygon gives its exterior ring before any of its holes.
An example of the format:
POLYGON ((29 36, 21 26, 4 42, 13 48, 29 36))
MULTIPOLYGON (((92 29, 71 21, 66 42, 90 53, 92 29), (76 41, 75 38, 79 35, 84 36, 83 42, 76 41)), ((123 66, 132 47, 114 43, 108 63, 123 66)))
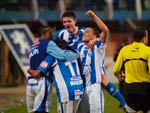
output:
POLYGON ((133 32, 134 41, 140 42, 146 36, 146 29, 145 28, 136 28, 133 32))

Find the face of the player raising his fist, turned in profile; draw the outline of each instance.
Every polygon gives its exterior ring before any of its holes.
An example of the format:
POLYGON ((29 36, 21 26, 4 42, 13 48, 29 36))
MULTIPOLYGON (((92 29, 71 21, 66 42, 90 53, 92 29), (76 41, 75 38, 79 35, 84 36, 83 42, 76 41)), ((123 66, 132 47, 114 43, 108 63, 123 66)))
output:
POLYGON ((87 28, 83 33, 82 41, 83 42, 88 42, 88 41, 93 39, 93 36, 94 36, 93 29, 92 28, 87 28))

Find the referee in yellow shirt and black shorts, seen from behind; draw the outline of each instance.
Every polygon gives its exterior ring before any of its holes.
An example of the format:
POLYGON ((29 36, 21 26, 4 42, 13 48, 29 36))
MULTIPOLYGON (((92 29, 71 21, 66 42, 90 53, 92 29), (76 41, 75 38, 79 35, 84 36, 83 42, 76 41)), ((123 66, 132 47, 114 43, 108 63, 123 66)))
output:
POLYGON ((124 46, 113 68, 119 77, 125 68, 125 100, 127 113, 150 113, 150 48, 148 32, 137 28, 133 33, 134 42, 124 46))

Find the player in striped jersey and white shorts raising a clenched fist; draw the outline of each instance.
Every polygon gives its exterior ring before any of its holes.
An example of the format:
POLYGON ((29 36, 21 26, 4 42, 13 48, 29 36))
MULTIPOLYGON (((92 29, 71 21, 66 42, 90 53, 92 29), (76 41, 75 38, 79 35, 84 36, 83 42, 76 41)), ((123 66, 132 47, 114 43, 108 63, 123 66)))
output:
MULTIPOLYGON (((94 19, 98 27, 102 30, 101 35, 107 39, 109 30, 107 26, 92 11, 87 11, 86 16, 94 19)), ((100 36, 101 37, 101 36, 100 36)), ((86 79, 86 92, 89 98, 90 113, 104 112, 104 98, 101 86, 102 64, 104 60, 105 44, 96 38, 93 28, 86 28, 82 36, 82 42, 77 45, 83 65, 83 74, 86 79), (87 47, 90 40, 96 40, 93 49, 87 47)))

